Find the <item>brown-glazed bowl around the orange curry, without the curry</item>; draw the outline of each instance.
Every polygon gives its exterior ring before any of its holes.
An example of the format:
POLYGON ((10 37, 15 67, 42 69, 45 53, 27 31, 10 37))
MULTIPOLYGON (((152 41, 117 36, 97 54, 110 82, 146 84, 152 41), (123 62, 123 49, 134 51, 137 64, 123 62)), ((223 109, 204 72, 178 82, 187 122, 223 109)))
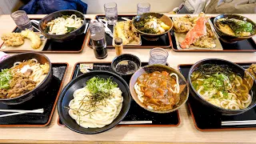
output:
POLYGON ((164 65, 159 65, 159 64, 154 64, 154 65, 148 65, 140 68, 137 70, 132 78, 130 78, 130 94, 134 98, 134 101, 138 103, 139 106, 144 108, 145 110, 149 110, 150 112, 154 113, 159 113, 159 114, 165 114, 165 113, 170 113, 175 110, 178 110, 184 103, 186 103, 188 97, 189 97, 189 86, 186 82, 186 79, 183 77, 181 73, 179 73, 177 70, 174 70, 173 68, 169 66, 164 66, 164 65), (179 91, 179 101, 176 103, 170 110, 154 110, 150 109, 148 106, 146 106, 143 102, 141 102, 138 98, 138 94, 134 90, 134 85, 137 82, 137 79, 142 75, 142 74, 151 74, 155 71, 166 71, 167 73, 171 74, 177 74, 178 75, 178 83, 180 86, 180 91, 179 91))

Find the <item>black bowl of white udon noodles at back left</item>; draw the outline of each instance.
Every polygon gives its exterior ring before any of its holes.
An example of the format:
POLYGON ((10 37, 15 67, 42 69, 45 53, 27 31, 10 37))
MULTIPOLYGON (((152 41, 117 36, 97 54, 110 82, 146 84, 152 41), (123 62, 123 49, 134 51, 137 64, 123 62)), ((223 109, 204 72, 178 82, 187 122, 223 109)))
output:
POLYGON ((86 17, 77 10, 60 10, 42 18, 38 27, 46 38, 65 42, 84 33, 86 17))

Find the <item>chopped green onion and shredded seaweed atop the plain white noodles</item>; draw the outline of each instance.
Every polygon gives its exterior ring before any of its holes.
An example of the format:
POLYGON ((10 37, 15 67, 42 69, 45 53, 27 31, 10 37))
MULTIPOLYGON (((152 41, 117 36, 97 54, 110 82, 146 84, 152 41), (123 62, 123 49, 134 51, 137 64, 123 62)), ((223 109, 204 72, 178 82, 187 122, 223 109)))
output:
POLYGON ((98 102, 102 102, 102 105, 106 102, 107 98, 111 97, 111 90, 118 87, 116 82, 113 82, 111 78, 90 78, 86 82, 86 88, 90 91, 88 95, 90 106, 96 107, 98 102))

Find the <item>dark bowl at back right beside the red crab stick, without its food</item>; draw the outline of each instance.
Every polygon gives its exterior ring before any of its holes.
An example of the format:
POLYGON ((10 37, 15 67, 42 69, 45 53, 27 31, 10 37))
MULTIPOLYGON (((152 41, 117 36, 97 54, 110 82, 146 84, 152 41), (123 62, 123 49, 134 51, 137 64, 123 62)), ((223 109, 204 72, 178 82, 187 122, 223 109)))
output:
POLYGON ((242 40, 251 38, 256 34, 256 24, 255 24, 255 22, 250 20, 249 18, 243 17, 242 15, 238 15, 238 14, 221 14, 221 15, 218 15, 216 18, 214 18, 214 28, 215 28, 219 38, 223 42, 226 42, 226 43, 234 43, 234 42, 242 41, 242 40), (245 21, 245 22, 250 22, 254 26, 254 33, 251 34, 250 36, 247 36, 247 37, 238 37, 238 36, 233 36, 233 35, 230 35, 230 34, 223 33, 222 30, 220 30, 218 28, 218 25, 217 25, 217 21, 220 18, 235 18, 235 19, 239 19, 239 20, 242 20, 242 21, 245 21))

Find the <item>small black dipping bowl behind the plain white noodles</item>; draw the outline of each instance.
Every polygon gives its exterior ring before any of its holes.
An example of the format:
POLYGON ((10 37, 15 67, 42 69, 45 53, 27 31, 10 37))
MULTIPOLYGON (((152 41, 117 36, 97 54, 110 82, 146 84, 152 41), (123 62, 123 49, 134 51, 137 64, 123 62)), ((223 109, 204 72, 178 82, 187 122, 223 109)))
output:
MULTIPOLYGON (((111 62, 111 67, 112 67, 112 69, 114 70, 115 73, 117 73, 121 76, 131 76, 136 71, 136 70, 134 70, 133 73, 128 73, 128 74, 120 73, 119 71, 117 71, 116 66, 118 65, 118 62, 125 61, 125 60, 130 60, 131 62, 134 62, 137 66, 137 70, 142 65, 141 60, 137 56, 135 56, 134 54, 121 54, 118 57, 115 57, 111 62)), ((130 64, 127 63, 127 66, 130 66, 130 64)), ((125 68, 125 69, 122 69, 122 70, 123 70, 123 72, 126 72, 126 70, 128 70, 128 69, 125 68)))

